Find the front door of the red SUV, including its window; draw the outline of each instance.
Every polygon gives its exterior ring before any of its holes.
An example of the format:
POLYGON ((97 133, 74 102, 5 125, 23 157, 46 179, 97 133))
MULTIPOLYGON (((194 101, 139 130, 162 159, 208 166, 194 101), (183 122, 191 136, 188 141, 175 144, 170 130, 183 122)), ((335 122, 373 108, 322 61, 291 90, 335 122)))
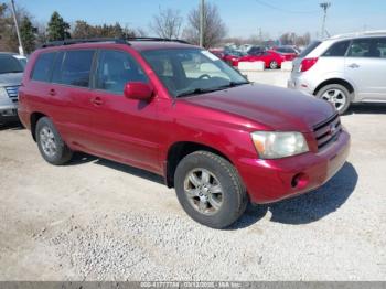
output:
POLYGON ((90 117, 97 137, 93 150, 99 156, 159 171, 158 99, 146 101, 124 96, 128 82, 150 82, 143 69, 126 51, 100 50, 93 82, 90 117))

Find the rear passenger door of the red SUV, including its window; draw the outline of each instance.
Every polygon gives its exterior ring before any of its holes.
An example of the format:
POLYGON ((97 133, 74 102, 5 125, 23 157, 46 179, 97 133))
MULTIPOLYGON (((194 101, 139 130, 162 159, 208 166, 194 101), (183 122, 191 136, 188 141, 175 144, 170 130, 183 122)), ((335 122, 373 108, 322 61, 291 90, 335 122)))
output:
POLYGON ((55 125, 68 144, 82 149, 95 144, 89 103, 89 79, 95 52, 88 49, 58 52, 47 89, 55 125))

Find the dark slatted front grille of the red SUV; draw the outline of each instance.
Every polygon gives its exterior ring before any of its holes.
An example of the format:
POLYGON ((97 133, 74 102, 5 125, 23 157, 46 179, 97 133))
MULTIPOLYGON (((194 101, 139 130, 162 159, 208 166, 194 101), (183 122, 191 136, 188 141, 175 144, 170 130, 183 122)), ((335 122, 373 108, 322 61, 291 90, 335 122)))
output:
POLYGON ((318 150, 328 147, 334 142, 342 132, 341 119, 337 114, 313 127, 317 138, 318 150))

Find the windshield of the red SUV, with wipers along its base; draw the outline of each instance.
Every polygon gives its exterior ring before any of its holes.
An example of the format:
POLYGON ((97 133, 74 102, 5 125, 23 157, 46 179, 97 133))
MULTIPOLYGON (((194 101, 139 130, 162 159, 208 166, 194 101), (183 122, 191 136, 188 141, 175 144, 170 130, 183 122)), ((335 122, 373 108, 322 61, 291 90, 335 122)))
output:
POLYGON ((208 51, 171 49, 141 53, 174 97, 247 84, 238 72, 208 51))

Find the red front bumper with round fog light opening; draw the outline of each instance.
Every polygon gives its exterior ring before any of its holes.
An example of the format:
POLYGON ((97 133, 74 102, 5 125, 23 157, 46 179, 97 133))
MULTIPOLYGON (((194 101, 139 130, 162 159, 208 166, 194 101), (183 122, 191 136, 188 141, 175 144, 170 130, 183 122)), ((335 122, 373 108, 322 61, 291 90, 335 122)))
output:
POLYGON ((279 160, 242 159, 237 169, 253 203, 272 203, 323 185, 343 167, 349 151, 350 135, 343 130, 318 153, 279 160))

